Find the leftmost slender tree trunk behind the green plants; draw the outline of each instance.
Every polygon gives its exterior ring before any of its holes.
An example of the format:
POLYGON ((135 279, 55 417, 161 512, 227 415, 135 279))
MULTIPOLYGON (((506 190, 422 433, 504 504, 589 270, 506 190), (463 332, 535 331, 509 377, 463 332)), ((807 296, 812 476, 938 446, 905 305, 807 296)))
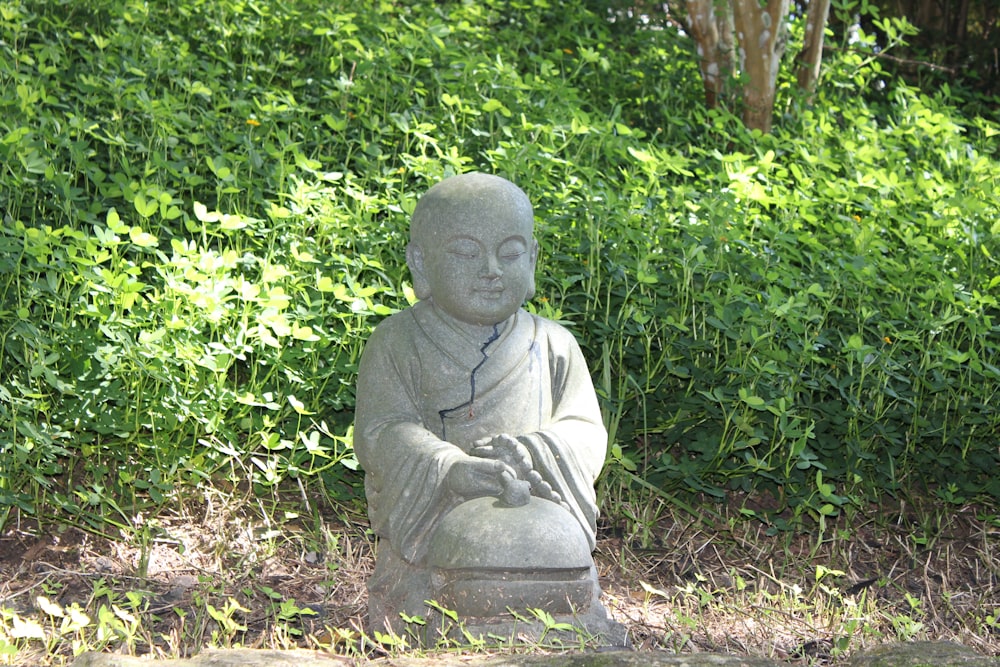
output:
POLYGON ((687 0, 687 24, 698 46, 699 69, 709 109, 726 98, 726 82, 733 71, 733 22, 728 3, 687 0))

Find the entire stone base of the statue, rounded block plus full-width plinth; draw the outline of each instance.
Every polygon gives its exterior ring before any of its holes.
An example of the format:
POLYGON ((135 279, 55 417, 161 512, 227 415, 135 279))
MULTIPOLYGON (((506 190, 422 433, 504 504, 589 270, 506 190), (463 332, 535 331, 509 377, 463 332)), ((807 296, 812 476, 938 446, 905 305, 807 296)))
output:
POLYGON ((510 507, 497 498, 476 498, 441 520, 430 545, 426 567, 401 567, 401 559, 380 554, 376 575, 381 570, 386 576, 374 579, 411 585, 405 601, 370 587, 374 627, 424 646, 470 635, 497 643, 628 645, 624 626, 600 602, 586 534, 560 505, 530 498, 510 507), (422 624, 407 623, 407 615, 422 624))

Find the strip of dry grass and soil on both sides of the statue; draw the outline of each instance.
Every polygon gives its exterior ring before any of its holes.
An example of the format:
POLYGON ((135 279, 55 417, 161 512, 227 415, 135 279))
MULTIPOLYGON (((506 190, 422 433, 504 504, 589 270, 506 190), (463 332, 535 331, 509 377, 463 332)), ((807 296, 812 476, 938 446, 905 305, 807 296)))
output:
MULTIPOLYGON (((738 512, 709 521, 641 506, 644 522, 602 528, 596 554, 607 604, 639 648, 823 665, 947 639, 1000 655, 1000 524, 984 508, 882 508, 823 534, 769 535, 738 512)), ((141 524, 121 540, 34 525, 0 535, 0 639, 18 648, 0 664, 65 664, 74 641, 162 657, 237 643, 364 653, 373 559, 361 513, 296 516, 212 491, 141 524), (74 603, 92 624, 64 632, 74 603), (102 606, 122 621, 103 636, 102 606), (47 639, 11 639, 15 619, 47 639)))

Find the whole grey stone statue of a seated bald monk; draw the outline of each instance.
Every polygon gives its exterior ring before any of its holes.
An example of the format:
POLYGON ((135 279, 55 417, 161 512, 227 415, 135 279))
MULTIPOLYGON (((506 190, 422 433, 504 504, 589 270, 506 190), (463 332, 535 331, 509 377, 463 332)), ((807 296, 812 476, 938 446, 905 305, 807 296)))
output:
POLYGON ((413 212, 420 301, 376 327, 358 372, 374 629, 405 634, 403 617, 434 601, 467 627, 522 632, 542 609, 624 643, 591 555, 607 449, 593 384, 573 336, 521 307, 533 226, 524 192, 481 173, 438 183, 413 212))

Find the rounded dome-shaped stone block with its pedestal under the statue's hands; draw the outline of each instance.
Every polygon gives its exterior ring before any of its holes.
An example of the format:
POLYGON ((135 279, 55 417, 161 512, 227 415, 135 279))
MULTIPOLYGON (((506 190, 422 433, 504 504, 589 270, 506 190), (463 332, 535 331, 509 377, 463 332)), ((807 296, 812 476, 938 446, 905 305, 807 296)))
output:
POLYGON ((441 520, 427 563, 435 602, 458 614, 466 631, 538 638, 551 632, 532 611, 542 610, 598 643, 626 643, 600 602, 586 534, 554 502, 465 502, 441 520))

